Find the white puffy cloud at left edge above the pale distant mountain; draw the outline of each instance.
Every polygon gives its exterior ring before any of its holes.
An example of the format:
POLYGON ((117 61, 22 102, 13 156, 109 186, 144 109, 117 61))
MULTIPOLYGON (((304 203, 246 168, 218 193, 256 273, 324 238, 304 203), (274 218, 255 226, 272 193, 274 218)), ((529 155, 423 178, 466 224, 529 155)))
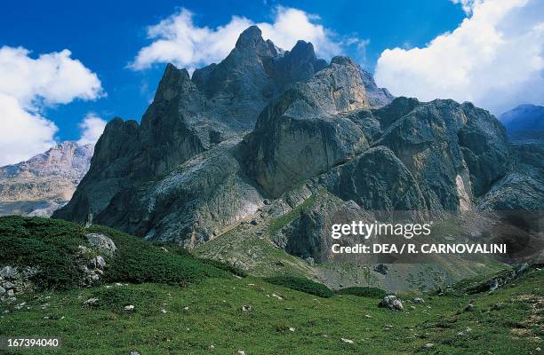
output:
POLYGON ((0 48, 0 165, 27 160, 56 144, 48 106, 104 95, 100 80, 68 50, 30 57, 24 48, 0 48))

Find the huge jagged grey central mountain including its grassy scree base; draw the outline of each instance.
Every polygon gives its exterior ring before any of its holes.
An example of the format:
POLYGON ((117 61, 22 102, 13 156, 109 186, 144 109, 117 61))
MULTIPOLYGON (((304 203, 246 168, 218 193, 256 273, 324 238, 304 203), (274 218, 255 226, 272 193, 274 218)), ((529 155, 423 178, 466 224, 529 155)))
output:
POLYGON ((539 238, 532 221, 492 213, 544 209, 539 149, 511 145, 470 103, 393 98, 353 59, 326 63, 302 41, 283 51, 252 27, 192 77, 168 65, 140 124, 108 122, 89 172, 53 217, 92 217, 262 275, 423 289, 500 263, 436 256, 433 266, 387 259, 335 269, 326 266, 332 224, 434 220, 435 241, 504 240, 526 251, 539 238), (521 178, 523 164, 532 168, 521 178), (516 200, 503 203, 516 182, 516 200), (387 277, 369 266, 377 263, 387 277))

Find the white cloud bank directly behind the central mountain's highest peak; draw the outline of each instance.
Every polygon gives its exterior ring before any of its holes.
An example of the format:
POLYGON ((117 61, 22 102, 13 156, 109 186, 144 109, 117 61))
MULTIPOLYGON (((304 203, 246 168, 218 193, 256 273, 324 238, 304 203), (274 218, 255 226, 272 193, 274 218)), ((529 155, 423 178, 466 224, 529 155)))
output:
POLYGON ((194 69, 219 62, 234 48, 240 33, 252 25, 259 26, 265 39, 286 50, 302 39, 313 43, 317 54, 324 58, 339 54, 344 41, 335 41, 337 36, 318 20, 316 15, 278 6, 271 23, 233 16, 224 26, 208 28, 198 27, 193 13, 181 9, 148 28, 148 38, 153 43, 142 48, 129 67, 141 70, 154 63, 172 62, 178 67, 194 69))

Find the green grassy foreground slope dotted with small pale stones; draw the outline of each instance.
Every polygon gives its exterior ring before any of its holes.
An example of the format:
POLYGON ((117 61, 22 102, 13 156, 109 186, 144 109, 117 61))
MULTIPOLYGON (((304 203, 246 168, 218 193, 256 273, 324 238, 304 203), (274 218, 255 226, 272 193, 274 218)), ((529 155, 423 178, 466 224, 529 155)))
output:
MULTIPOLYGON (((0 218, 0 228, 4 221, 0 218)), ((79 238, 80 227, 68 226, 76 228, 79 238)), ((113 259, 116 269, 107 270, 117 270, 108 276, 111 282, 46 288, 0 304, 0 335, 60 336, 62 341, 60 351, 18 353, 527 355, 542 348, 544 271, 538 269, 492 294, 465 295, 453 288, 445 296, 400 295, 405 312, 391 312, 377 307, 378 291, 324 298, 265 279, 241 279, 175 247, 159 252, 163 245, 94 228, 108 232, 120 249, 113 259), (129 251, 136 253, 132 260, 129 254, 122 256, 129 251), (175 268, 178 262, 191 267, 175 268), (126 276, 154 275, 172 267, 175 277, 157 279, 161 283, 139 278, 128 282, 126 276), (202 272, 199 277, 183 276, 194 275, 194 270, 202 272), (116 278, 127 281, 118 283, 116 278), (412 304, 412 296, 426 302, 412 304), (98 297, 98 304, 82 307, 91 297, 98 297), (464 311, 469 302, 475 304, 473 312, 464 311), (124 311, 128 304, 134 305, 133 312, 124 311)), ((0 231, 3 246, 12 242, 0 231)), ((67 233, 58 237, 71 238, 67 233)), ((15 259, 3 257, 2 263, 15 259)))

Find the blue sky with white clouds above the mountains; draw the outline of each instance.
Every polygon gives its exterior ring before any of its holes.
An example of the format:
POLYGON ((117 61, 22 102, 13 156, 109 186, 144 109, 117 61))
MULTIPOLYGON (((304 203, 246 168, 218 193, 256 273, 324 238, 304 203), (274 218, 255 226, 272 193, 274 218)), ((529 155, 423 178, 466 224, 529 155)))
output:
POLYGON ((223 37, 252 23, 276 44, 300 33, 325 59, 352 56, 399 96, 494 114, 544 103, 540 0, 3 2, 0 120, 12 131, 0 132, 0 165, 82 134, 92 141, 100 119, 140 120, 166 61, 217 61, 235 41, 223 37))

